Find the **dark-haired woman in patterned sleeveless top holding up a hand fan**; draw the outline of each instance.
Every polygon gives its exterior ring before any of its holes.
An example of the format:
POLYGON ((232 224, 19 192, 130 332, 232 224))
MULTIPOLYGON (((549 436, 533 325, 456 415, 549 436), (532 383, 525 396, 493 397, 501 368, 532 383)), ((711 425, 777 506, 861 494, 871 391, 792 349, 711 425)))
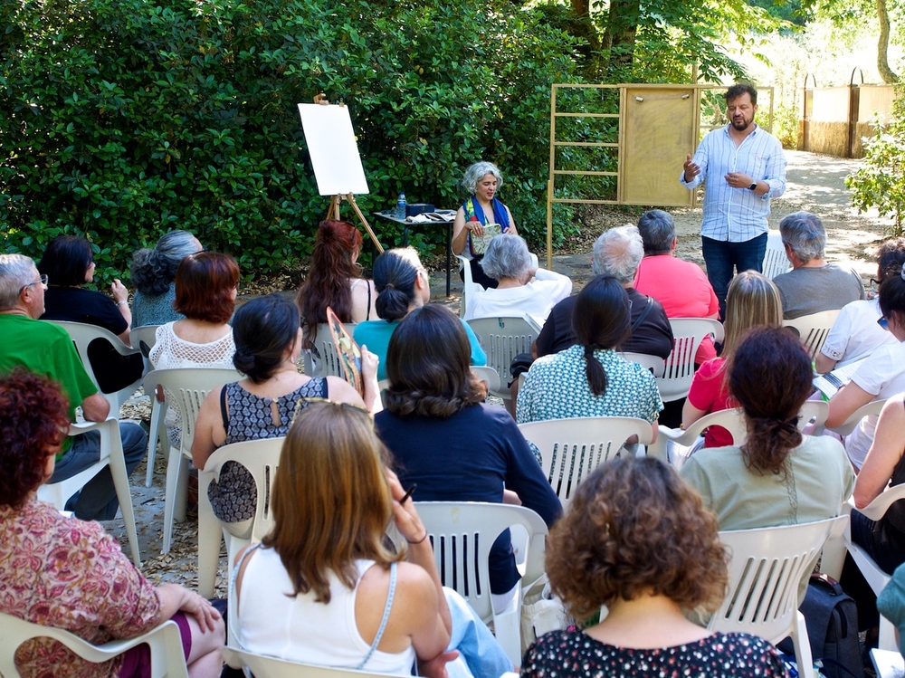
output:
MULTIPOLYGON (((285 435, 292 417, 309 398, 379 406, 376 358, 367 350, 362 360, 365 402, 339 377, 311 378, 299 373, 299 308, 281 294, 243 305, 235 314, 233 337, 233 364, 245 378, 214 388, 201 404, 192 440, 195 468, 203 469, 211 454, 225 444, 285 435)), ((237 535, 251 530, 257 491, 252 474, 241 463, 224 464, 220 481, 212 482, 207 494, 218 519, 243 523, 234 527, 237 535)))

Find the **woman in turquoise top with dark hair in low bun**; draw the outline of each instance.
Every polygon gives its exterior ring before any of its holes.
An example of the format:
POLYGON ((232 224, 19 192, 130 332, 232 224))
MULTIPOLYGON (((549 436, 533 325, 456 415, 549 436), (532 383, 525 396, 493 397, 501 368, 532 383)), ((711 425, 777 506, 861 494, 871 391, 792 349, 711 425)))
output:
MULTIPOLYGON (((377 379, 386 379, 386 350, 400 320, 410 311, 431 301, 431 281, 427 269, 413 247, 397 247, 381 253, 374 262, 374 286, 377 291, 377 316, 382 320, 359 322, 355 328, 356 343, 379 359, 377 379)), ((487 355, 472 328, 462 320, 472 347, 472 365, 487 365, 487 355)))

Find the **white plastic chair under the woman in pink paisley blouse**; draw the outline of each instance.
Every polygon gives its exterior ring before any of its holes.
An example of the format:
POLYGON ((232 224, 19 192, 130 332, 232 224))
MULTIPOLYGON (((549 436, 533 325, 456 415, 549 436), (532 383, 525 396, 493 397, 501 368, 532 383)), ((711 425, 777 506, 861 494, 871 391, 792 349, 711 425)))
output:
POLYGON ((0 613, 0 638, 3 638, 3 643, 0 643, 0 675, 6 678, 20 678, 21 674, 14 663, 15 651, 19 645, 32 638, 52 638, 82 659, 95 664, 110 661, 131 647, 147 643, 151 651, 151 678, 188 678, 179 627, 173 621, 166 621, 147 634, 129 640, 91 645, 62 628, 32 624, 16 616, 0 613))

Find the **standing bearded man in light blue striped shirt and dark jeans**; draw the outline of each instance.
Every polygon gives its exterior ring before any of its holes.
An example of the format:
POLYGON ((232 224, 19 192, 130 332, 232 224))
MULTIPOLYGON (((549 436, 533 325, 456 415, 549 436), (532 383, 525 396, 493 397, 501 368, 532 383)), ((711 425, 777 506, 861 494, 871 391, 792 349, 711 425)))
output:
POLYGON ((700 239, 720 317, 725 316, 733 269, 761 270, 767 252, 770 198, 786 192, 782 144, 754 122, 757 90, 738 83, 726 91, 725 98, 729 125, 701 139, 694 158, 686 157, 679 177, 690 190, 710 178, 700 239))

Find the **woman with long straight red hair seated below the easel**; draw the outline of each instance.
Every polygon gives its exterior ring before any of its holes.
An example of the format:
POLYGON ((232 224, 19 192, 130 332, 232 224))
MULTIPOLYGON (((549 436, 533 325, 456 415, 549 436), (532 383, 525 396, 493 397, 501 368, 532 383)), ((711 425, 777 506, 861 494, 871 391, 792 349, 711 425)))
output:
POLYGON ((318 325, 327 322, 327 307, 339 320, 357 323, 377 317, 374 282, 361 277, 358 254, 361 234, 346 221, 320 222, 311 253, 311 267, 295 301, 301 311, 304 348, 310 349, 318 325))

